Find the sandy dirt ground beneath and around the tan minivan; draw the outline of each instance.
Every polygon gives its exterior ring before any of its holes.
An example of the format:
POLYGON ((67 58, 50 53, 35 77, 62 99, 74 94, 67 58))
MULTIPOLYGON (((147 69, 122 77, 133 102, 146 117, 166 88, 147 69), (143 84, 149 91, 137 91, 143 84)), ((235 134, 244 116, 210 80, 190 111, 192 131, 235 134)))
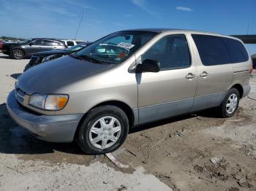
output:
POLYGON ((12 121, 4 103, 27 62, 0 55, 0 190, 256 190, 256 73, 234 117, 208 110, 130 130, 113 153, 124 170, 12 121))

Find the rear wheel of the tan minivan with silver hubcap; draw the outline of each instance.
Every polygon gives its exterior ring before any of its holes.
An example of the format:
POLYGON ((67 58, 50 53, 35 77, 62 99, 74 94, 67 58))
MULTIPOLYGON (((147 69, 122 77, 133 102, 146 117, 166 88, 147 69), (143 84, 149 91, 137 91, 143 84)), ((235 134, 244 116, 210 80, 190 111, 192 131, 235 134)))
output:
POLYGON ((239 98, 240 95, 236 88, 228 90, 224 101, 219 106, 219 114, 221 117, 232 117, 236 113, 239 105, 239 98))

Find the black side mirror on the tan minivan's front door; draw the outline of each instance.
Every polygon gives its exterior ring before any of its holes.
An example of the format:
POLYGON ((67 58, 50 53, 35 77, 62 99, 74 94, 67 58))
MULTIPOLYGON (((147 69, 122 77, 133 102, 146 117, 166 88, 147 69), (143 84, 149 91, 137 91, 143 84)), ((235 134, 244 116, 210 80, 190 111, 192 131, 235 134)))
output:
POLYGON ((136 72, 159 72, 160 63, 159 61, 154 61, 150 59, 144 60, 141 64, 137 65, 136 72))

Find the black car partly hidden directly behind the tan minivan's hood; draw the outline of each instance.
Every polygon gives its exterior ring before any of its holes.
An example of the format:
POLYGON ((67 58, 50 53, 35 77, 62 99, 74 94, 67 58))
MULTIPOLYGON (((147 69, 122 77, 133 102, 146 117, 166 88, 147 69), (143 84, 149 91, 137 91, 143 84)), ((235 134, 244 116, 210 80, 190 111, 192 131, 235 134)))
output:
POLYGON ((83 49, 89 44, 91 44, 91 42, 83 42, 81 44, 78 44, 66 49, 62 49, 62 50, 49 50, 49 51, 34 53, 31 56, 29 63, 25 66, 24 71, 26 71, 27 69, 30 69, 32 66, 38 65, 39 63, 44 63, 46 61, 51 61, 53 59, 60 58, 64 55, 69 55, 71 53, 78 52, 78 50, 83 49))

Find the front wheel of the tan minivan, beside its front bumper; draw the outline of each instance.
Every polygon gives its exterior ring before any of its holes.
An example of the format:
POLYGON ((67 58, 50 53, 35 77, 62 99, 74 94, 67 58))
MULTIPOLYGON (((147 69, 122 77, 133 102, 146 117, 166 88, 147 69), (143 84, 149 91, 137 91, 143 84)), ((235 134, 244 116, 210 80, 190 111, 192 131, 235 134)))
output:
POLYGON ((79 147, 88 155, 101 155, 118 149, 129 132, 129 121, 117 106, 99 106, 86 115, 77 134, 79 147))

